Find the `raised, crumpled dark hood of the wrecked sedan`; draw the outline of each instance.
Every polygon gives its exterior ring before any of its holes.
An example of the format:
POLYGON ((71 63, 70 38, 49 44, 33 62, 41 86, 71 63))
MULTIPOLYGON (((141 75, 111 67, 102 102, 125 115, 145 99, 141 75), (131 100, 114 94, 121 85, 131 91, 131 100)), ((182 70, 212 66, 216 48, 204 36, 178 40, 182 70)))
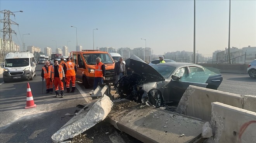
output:
POLYGON ((156 76, 157 79, 159 80, 165 79, 159 72, 157 72, 154 68, 152 68, 152 66, 145 63, 145 61, 138 58, 135 54, 133 54, 130 57, 129 66, 133 70, 133 72, 138 73, 140 75, 142 75, 142 73, 147 73, 147 74, 156 76))

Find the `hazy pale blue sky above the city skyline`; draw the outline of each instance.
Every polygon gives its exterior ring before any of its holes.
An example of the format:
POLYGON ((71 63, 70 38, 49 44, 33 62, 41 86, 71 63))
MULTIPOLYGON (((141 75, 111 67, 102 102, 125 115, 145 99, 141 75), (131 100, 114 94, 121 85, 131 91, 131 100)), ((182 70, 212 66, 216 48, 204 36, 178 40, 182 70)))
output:
MULTIPOLYGON (((96 47, 152 48, 153 54, 193 51, 194 0, 0 0, 0 10, 16 12, 12 39, 22 49, 67 45, 75 50, 96 47), (142 39, 140 39, 142 38, 142 39), (55 41, 52 41, 55 40, 55 41)), ((195 46, 211 56, 228 47, 229 0, 196 0, 195 46)), ((3 14, 0 15, 3 19, 3 14)), ((3 24, 0 24, 3 29, 3 24)), ((3 37, 3 33, 0 33, 3 37)), ((256 46, 256 0, 231 0, 230 47, 256 46)))

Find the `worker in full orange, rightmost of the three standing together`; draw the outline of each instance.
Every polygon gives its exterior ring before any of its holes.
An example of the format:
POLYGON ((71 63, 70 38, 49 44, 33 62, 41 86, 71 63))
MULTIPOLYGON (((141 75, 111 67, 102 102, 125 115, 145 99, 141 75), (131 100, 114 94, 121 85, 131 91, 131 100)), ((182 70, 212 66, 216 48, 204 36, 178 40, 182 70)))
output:
POLYGON ((70 58, 67 58, 67 62, 63 66, 63 70, 64 70, 64 73, 65 73, 66 82, 67 82, 67 84, 66 84, 67 93, 70 92, 70 89, 69 89, 70 79, 71 79, 71 83, 72 83, 71 93, 73 93, 74 90, 76 89, 76 83, 75 82, 76 82, 77 68, 76 68, 75 64, 70 61, 70 58))

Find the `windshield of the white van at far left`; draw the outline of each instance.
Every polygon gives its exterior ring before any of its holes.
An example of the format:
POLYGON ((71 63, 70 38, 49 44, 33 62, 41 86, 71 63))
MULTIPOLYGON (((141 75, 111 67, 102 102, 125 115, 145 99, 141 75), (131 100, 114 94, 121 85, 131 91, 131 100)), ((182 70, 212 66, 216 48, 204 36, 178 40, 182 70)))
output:
POLYGON ((22 67, 29 65, 29 58, 21 58, 21 59, 5 59, 5 67, 22 67))

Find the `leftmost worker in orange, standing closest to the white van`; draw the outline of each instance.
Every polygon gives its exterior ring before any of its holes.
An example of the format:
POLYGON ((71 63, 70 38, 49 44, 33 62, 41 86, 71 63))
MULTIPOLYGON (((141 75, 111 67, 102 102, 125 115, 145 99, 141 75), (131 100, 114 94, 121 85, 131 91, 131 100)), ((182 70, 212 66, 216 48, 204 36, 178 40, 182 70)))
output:
POLYGON ((41 77, 42 81, 45 79, 46 82, 46 94, 52 94, 53 83, 50 80, 51 75, 51 65, 49 61, 45 61, 45 65, 42 67, 41 77))

